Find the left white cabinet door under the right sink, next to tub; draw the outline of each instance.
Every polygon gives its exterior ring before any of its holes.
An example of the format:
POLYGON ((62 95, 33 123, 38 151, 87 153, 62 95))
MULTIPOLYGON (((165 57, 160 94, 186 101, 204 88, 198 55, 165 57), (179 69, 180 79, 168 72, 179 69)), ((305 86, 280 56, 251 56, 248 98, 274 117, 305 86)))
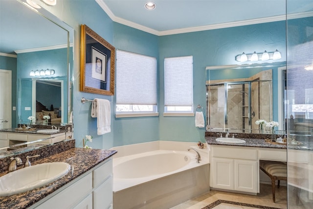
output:
POLYGON ((234 160, 213 158, 210 169, 212 187, 234 189, 234 160))

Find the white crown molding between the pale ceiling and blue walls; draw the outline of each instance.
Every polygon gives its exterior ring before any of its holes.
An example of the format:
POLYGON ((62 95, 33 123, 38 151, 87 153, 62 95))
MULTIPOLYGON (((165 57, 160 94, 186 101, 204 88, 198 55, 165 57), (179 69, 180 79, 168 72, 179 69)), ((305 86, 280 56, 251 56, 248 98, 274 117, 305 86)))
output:
POLYGON ((218 23, 218 24, 210 24, 210 25, 203 25, 203 26, 197 26, 197 27, 187 27, 187 28, 180 28, 180 29, 173 29, 173 30, 157 31, 152 28, 125 20, 123 18, 116 17, 112 13, 111 9, 104 3, 103 0, 95 0, 95 1, 107 13, 107 15, 111 18, 113 22, 124 24, 130 27, 133 27, 135 29, 142 30, 142 31, 145 31, 147 33, 151 33, 157 36, 174 35, 174 34, 197 32, 197 31, 203 31, 203 30, 221 29, 221 28, 227 28, 227 27, 237 27, 237 26, 244 26, 244 25, 250 25, 250 24, 286 21, 287 19, 291 20, 291 19, 313 16, 313 12, 302 12, 302 13, 288 14, 287 16, 278 15, 278 16, 273 16, 273 17, 258 18, 258 19, 251 19, 251 20, 245 20, 245 21, 218 23))

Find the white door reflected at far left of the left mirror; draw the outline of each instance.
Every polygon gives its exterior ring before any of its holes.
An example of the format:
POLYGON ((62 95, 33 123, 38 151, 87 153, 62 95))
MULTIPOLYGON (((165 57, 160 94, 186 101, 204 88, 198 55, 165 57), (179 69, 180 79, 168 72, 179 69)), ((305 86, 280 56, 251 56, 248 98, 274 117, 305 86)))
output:
POLYGON ((0 70, 0 129, 12 127, 12 71, 0 70))

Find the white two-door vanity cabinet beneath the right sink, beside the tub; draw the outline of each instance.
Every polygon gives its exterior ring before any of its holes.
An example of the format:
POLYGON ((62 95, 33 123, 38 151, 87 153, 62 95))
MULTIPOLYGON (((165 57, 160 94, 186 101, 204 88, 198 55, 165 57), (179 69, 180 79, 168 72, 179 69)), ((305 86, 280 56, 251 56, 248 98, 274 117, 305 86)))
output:
POLYGON ((210 185, 217 189, 259 192, 257 149, 210 145, 210 185))

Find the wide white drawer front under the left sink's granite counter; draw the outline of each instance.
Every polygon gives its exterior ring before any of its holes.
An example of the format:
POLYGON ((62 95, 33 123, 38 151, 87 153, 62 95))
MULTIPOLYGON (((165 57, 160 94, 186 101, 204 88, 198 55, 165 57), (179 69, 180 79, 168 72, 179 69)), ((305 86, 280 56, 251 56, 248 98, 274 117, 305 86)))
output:
MULTIPOLYGON (((89 173, 74 184, 60 191, 36 209, 69 209, 80 202, 91 190, 92 175, 89 173)), ((48 196, 49 197, 49 196, 48 196)))

